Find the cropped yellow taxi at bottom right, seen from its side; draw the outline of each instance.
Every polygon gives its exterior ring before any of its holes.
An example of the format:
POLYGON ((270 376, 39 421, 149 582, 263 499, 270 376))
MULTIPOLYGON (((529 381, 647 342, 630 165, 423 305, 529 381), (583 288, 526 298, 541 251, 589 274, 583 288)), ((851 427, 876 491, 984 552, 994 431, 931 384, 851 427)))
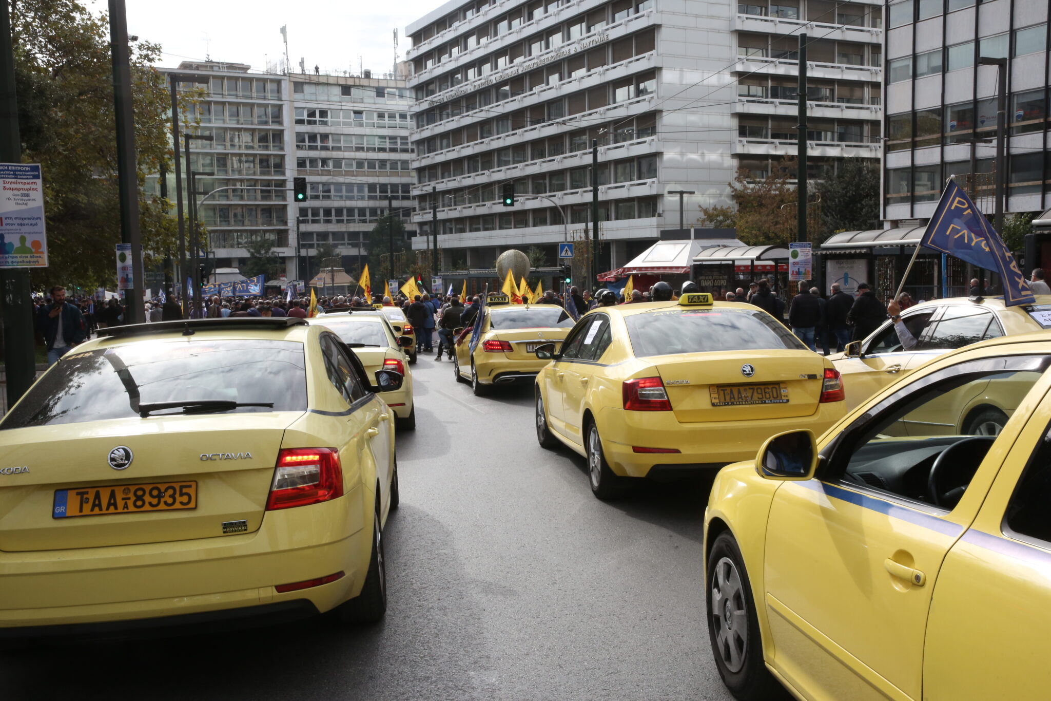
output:
POLYGON ((968 346, 718 474, 706 615, 734 696, 1048 698, 1049 366, 1051 332, 968 346), (980 395, 1015 397, 996 435, 970 428, 980 395))

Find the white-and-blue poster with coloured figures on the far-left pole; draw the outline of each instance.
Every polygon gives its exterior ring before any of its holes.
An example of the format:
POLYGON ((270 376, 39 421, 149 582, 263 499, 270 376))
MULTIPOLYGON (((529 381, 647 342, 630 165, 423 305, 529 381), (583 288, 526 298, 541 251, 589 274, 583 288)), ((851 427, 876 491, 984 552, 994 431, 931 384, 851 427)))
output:
POLYGON ((0 163, 0 268, 46 268, 40 164, 0 163))

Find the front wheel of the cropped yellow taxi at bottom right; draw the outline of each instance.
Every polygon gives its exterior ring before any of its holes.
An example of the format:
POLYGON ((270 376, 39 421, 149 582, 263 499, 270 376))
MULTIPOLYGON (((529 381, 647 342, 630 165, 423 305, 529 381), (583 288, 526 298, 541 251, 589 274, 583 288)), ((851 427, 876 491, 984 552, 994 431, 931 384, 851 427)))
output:
POLYGON ((751 584, 729 532, 720 533, 712 544, 707 575, 708 639, 726 688, 740 701, 786 698, 763 661, 751 584))

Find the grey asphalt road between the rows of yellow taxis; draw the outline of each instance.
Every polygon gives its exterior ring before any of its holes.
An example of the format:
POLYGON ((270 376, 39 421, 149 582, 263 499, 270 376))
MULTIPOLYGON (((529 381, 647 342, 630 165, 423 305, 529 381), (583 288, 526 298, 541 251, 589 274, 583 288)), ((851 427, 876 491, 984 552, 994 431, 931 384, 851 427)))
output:
POLYGON ((477 398, 420 356, 398 436, 384 622, 0 654, 5 700, 731 699, 701 590, 710 479, 601 502, 536 441, 532 389, 477 398))

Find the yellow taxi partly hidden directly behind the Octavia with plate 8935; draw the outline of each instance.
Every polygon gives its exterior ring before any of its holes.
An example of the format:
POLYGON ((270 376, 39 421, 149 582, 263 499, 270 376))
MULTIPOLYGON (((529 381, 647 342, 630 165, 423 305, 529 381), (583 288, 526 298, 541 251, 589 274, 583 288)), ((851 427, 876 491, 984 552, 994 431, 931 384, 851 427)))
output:
POLYGON ((376 370, 393 370, 405 375, 401 389, 384 393, 384 401, 394 412, 400 430, 416 428, 416 407, 412 400, 412 371, 408 367, 406 349, 413 344, 408 336, 398 336, 386 316, 367 307, 344 313, 323 314, 308 319, 331 330, 357 356, 371 376, 376 370))

